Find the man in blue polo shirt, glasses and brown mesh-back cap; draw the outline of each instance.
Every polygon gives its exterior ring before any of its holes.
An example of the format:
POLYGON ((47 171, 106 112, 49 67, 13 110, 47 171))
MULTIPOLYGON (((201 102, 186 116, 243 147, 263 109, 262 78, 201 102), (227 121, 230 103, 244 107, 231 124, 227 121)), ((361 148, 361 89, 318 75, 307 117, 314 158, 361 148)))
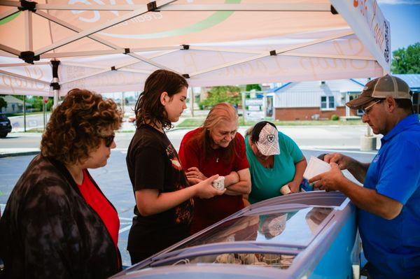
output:
POLYGON ((363 122, 381 138, 370 164, 339 153, 325 155, 331 171, 309 180, 314 187, 338 190, 359 208, 358 226, 371 278, 420 276, 420 124, 410 90, 400 78, 383 76, 366 84, 346 103, 363 109, 363 122), (363 183, 344 178, 348 169, 363 183))

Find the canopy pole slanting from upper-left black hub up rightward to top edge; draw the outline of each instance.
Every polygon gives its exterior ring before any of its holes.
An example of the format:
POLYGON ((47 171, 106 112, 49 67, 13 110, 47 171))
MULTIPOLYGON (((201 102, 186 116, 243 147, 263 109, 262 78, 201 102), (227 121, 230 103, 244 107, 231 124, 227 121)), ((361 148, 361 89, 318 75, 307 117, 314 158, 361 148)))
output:
MULTIPOLYGON (((158 1, 156 1, 156 6, 157 7, 160 7, 160 6, 166 5, 168 3, 172 3, 174 1, 176 1, 176 0, 158 0, 158 1)), ((100 24, 97 27, 94 27, 94 28, 91 28, 91 29, 87 29, 87 30, 83 30, 83 31, 81 31, 78 34, 75 34, 73 36, 69 36, 68 38, 64 38, 63 40, 58 41, 56 43, 52 43, 51 45, 48 45, 45 48, 40 48, 40 49, 38 49, 38 50, 35 51, 35 56, 36 55, 42 55, 43 53, 49 52, 50 50, 55 50, 56 48, 59 48, 59 47, 61 47, 63 45, 67 45, 69 43, 72 43, 73 41, 77 41, 80 38, 85 38, 86 36, 89 36, 89 35, 92 35, 94 33, 97 33, 99 31, 102 31, 104 29, 107 29, 109 27, 112 27, 112 26, 114 26, 116 24, 119 24, 121 22, 125 22, 126 20, 130 20, 133 17, 137 17, 139 15, 143 15, 144 13, 148 13, 148 7, 147 7, 147 5, 144 5, 143 8, 139 8, 138 10, 134 10, 134 11, 132 11, 130 13, 127 13, 125 15, 122 15, 120 17, 116 17, 113 20, 109 20, 109 22, 106 22, 105 24, 100 24)))

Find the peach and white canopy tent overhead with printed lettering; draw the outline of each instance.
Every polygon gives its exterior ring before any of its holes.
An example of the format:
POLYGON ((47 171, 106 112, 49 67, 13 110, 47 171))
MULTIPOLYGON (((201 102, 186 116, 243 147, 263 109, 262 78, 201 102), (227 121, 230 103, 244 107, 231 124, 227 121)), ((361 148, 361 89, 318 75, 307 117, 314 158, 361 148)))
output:
POLYGON ((0 94, 141 91, 156 69, 191 86, 389 71, 375 0, 42 1, 0 0, 0 94))

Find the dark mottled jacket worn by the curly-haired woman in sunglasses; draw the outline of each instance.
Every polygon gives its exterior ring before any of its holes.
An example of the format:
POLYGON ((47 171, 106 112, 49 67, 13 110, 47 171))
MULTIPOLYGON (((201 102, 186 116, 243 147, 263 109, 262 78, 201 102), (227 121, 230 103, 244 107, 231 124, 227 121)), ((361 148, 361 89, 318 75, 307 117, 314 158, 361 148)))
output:
POLYGON ((106 278, 121 269, 118 248, 69 171, 41 155, 0 219, 0 258, 5 278, 106 278))

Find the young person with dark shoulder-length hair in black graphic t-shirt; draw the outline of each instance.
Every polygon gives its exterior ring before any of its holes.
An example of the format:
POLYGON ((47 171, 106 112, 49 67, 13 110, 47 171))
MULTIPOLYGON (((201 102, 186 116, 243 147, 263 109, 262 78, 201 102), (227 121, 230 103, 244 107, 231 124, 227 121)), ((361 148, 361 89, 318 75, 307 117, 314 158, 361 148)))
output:
POLYGON ((132 264, 188 236, 193 196, 221 195, 211 186, 218 176, 187 180, 178 154, 165 134, 186 109, 188 83, 166 70, 149 76, 136 104, 137 131, 127 152, 136 206, 127 250, 132 264), (188 187, 188 183, 190 186, 188 187))

